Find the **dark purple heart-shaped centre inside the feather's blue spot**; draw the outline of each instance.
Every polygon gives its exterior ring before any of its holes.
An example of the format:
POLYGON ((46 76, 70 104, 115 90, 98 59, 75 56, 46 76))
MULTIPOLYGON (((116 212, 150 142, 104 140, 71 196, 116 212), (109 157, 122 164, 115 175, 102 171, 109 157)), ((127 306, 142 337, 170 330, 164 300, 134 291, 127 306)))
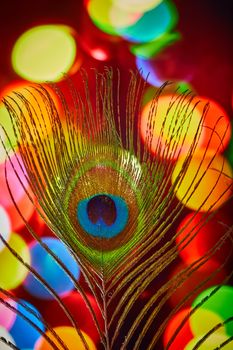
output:
POLYGON ((93 224, 102 219, 106 225, 111 226, 117 216, 114 200, 104 194, 92 197, 87 204, 87 214, 93 224))

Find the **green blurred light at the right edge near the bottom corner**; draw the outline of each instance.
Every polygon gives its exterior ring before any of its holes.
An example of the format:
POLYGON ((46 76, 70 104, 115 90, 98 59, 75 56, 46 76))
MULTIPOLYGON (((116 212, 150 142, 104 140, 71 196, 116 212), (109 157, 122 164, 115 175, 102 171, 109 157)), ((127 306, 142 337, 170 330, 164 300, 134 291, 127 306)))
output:
MULTIPOLYGON (((193 307, 200 305, 203 310, 209 310, 220 316, 224 321, 232 317, 233 310, 233 287, 222 285, 216 292, 216 286, 204 290, 194 300, 193 307), (206 299, 206 300, 205 300, 206 299)), ((226 334, 233 335, 233 321, 227 322, 225 325, 226 334)))

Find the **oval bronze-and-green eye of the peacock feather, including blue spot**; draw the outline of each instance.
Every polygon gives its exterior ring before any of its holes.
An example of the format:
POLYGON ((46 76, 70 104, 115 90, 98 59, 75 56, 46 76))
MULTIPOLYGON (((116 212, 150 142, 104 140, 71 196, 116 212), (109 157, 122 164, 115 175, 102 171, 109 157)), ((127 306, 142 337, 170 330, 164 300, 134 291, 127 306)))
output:
POLYGON ((112 151, 104 147, 95 158, 81 160, 63 199, 77 246, 106 273, 136 244, 142 196, 139 164, 126 151, 112 151))

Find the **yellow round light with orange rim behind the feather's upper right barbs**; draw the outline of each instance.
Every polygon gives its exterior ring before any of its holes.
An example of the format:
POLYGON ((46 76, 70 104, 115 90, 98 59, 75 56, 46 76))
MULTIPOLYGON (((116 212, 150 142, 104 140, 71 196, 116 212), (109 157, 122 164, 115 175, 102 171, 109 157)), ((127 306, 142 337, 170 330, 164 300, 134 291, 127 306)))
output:
POLYGON ((176 159, 186 153, 197 137, 201 113, 190 99, 182 95, 162 95, 158 103, 149 102, 141 114, 140 131, 152 153, 176 159))

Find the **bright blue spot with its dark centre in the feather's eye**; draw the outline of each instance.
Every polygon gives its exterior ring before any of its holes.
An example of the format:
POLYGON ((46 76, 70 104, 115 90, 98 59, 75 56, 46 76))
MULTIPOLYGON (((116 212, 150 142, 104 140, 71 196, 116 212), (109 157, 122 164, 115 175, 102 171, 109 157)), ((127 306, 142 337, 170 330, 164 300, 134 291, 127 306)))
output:
POLYGON ((129 209, 120 196, 97 194, 81 200, 77 206, 77 219, 90 235, 113 238, 125 228, 129 209))

